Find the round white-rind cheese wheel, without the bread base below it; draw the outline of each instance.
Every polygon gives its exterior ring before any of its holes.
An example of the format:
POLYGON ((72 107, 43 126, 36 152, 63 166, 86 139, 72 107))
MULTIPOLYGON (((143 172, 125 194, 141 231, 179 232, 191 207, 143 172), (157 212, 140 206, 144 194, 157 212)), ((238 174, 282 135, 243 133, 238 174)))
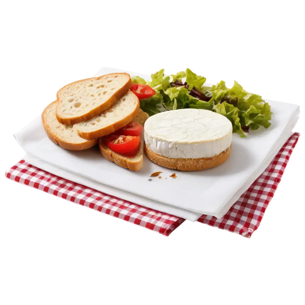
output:
POLYGON ((144 139, 152 152, 167 158, 208 158, 230 147, 232 123, 210 110, 170 110, 146 120, 144 139))

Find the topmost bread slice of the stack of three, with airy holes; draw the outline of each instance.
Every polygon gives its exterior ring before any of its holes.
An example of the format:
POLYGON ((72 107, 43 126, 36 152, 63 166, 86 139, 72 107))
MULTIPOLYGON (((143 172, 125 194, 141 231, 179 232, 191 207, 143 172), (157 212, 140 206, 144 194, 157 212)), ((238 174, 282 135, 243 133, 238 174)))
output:
POLYGON ((67 84, 56 93, 59 123, 73 125, 109 109, 131 88, 127 73, 112 73, 67 84))

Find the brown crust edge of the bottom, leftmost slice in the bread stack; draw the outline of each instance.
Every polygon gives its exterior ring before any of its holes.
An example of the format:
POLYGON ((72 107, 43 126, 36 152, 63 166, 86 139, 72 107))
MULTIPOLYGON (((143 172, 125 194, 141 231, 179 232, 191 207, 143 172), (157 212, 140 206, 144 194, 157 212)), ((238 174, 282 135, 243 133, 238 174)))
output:
POLYGON ((46 111, 49 107, 52 106, 52 104, 57 103, 57 101, 51 102, 47 107, 45 107, 45 110, 42 112, 41 114, 41 120, 42 120, 42 125, 45 129, 45 132, 48 136, 48 138, 54 142, 55 144, 59 145, 60 147, 62 147, 63 149, 68 149, 68 150, 84 150, 84 149, 89 149, 93 146, 95 146, 98 143, 98 139, 94 139, 94 140, 90 140, 90 141, 85 141, 83 143, 69 143, 66 141, 62 141, 60 140, 56 135, 54 135, 47 123, 45 114, 46 111))

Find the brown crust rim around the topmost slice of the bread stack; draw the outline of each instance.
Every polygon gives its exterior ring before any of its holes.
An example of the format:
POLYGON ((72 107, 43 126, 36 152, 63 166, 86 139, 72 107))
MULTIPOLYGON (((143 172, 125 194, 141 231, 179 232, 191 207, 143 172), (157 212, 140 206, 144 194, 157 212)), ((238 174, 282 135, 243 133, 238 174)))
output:
MULTIPOLYGON (((107 109, 109 109, 113 104, 115 104, 123 95, 125 95, 127 93, 127 91, 131 88, 132 86, 132 81, 131 81, 131 77, 129 74, 127 73, 110 73, 110 74, 106 74, 106 75, 102 75, 100 77, 91 77, 91 78, 94 78, 94 79, 101 79, 103 77, 106 77, 106 76, 121 76, 122 74, 124 74, 125 76, 128 76, 127 78, 127 82, 124 84, 123 87, 119 88, 117 91, 115 91, 113 93, 113 95, 111 95, 111 97, 103 102, 102 105, 98 105, 97 107, 95 107, 94 109, 90 110, 88 113, 84 114, 84 115, 81 115, 81 116, 76 116, 76 117, 70 117, 70 118, 65 118, 65 117, 61 117, 58 112, 57 112, 57 109, 56 109, 56 118, 57 120, 59 121, 59 123, 61 124, 65 124, 65 125, 74 125, 74 124, 77 124, 77 123, 80 123, 80 122, 84 122, 84 121, 88 121, 98 115, 100 115, 102 112, 106 111, 107 109)), ((83 79, 83 80, 78 80, 78 81, 75 81, 73 83, 80 83, 82 81, 85 81, 85 80, 88 80, 88 79, 91 79, 91 78, 87 78, 87 79, 83 79)), ((59 100, 59 92, 61 90, 63 90, 64 88, 66 88, 67 86, 70 86, 71 84, 73 83, 70 83, 70 84, 66 84, 65 86, 63 86, 62 88, 60 88, 57 92, 56 92, 56 100, 58 102, 60 102, 59 100)), ((128 124, 128 123, 127 123, 128 124)), ((92 139, 92 138, 90 138, 92 139)))

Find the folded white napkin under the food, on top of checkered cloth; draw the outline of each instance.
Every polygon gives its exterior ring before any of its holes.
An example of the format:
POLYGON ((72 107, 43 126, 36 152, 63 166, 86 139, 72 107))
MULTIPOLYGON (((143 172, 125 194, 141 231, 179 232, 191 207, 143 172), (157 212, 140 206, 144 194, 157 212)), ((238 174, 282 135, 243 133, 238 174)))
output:
MULTIPOLYGON (((106 69, 99 70, 94 76, 114 71, 113 67, 106 69)), ((147 74, 131 73, 125 68, 115 68, 115 71, 147 78, 147 74)), ((33 158, 43 161, 40 166, 36 165, 41 169, 193 222, 202 214, 221 218, 264 171, 291 135, 299 107, 274 99, 268 102, 274 113, 271 127, 251 131, 247 138, 234 134, 231 156, 223 165, 202 172, 178 172, 177 179, 169 178, 174 171, 161 168, 146 157, 142 170, 131 172, 105 160, 96 149, 83 152, 63 150, 46 137, 40 116, 14 135, 28 160, 31 157, 33 162, 36 162, 33 158), (52 170, 46 168, 50 166, 52 170), (150 174, 155 171, 162 171, 163 178, 149 181, 150 174)))

